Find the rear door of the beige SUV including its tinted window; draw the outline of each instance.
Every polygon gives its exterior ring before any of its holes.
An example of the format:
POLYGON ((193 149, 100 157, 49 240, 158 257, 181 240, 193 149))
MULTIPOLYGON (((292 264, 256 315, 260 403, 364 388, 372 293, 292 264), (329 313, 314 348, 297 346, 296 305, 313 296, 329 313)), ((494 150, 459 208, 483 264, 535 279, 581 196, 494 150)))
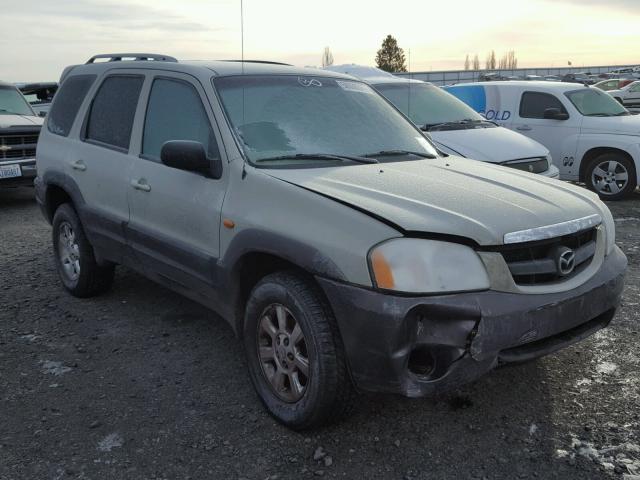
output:
POLYGON ((118 263, 125 261, 124 229, 129 221, 129 146, 144 75, 118 70, 97 87, 69 151, 68 165, 85 205, 83 222, 93 246, 118 263))

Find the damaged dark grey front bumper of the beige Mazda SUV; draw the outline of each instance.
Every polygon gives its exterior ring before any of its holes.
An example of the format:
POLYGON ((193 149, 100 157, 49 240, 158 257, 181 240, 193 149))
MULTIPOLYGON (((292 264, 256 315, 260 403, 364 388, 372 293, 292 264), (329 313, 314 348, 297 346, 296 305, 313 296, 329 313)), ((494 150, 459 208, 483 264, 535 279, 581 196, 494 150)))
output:
POLYGON ((540 357, 606 327, 627 259, 614 248, 568 292, 484 291, 409 297, 319 278, 360 390, 418 397, 473 381, 499 363, 540 357))

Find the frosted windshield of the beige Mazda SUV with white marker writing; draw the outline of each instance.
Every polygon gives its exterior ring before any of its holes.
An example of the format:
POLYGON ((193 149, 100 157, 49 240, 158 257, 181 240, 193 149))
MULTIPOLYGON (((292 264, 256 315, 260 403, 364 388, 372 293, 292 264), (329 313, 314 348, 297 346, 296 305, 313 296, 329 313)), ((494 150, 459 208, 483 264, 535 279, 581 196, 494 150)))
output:
POLYGON ((273 159, 290 166, 321 160, 311 154, 362 157, 399 150, 437 155, 419 130, 361 82, 244 75, 214 84, 251 162, 273 159))

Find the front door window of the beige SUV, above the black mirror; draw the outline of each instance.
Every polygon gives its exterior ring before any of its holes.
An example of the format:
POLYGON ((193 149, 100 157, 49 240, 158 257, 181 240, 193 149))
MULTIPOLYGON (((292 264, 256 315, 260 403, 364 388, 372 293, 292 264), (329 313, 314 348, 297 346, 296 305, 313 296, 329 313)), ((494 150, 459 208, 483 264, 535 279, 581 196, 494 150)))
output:
POLYGON ((182 80, 158 78, 149 95, 142 156, 159 160, 162 145, 170 140, 200 142, 209 158, 219 156, 211 123, 195 87, 182 80))

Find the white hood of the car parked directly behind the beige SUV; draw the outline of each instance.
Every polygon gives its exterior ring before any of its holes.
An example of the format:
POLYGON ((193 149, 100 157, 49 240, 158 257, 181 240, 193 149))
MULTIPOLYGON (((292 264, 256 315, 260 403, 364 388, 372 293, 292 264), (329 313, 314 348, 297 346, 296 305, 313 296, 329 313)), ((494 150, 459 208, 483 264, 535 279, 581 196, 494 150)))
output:
POLYGON ((546 157, 549 150, 535 140, 503 127, 429 132, 445 150, 483 162, 502 163, 546 157))

